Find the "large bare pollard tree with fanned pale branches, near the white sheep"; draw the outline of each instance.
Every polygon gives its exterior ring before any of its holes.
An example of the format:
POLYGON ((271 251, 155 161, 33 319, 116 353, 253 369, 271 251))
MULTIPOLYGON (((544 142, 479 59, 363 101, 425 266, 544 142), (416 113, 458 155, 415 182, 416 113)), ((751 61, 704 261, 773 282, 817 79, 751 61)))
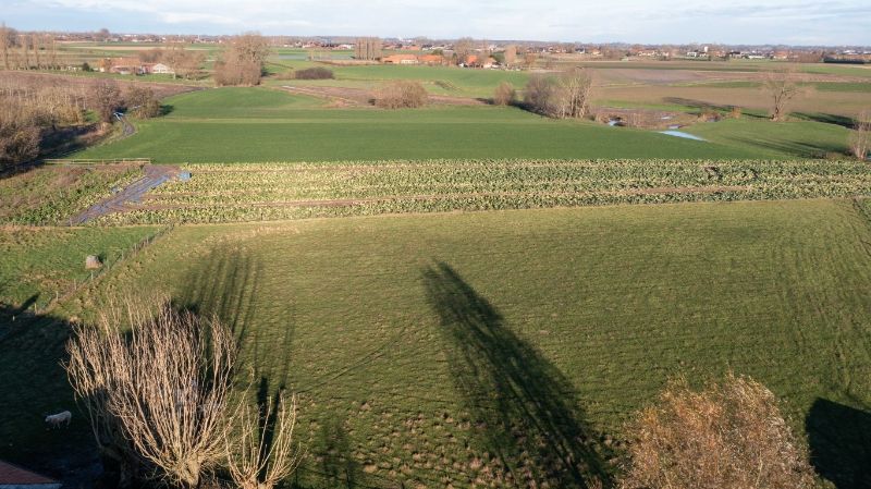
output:
MULTIPOLYGON (((128 304, 124 319, 111 314, 99 329, 75 328, 65 365, 70 381, 87 400, 91 421, 121 432, 124 452, 170 484, 196 487, 224 455, 234 420, 232 333, 217 319, 176 313, 169 304, 154 316, 128 304), (126 334, 120 328, 125 322, 126 334)), ((95 427, 102 431, 112 429, 95 427)))

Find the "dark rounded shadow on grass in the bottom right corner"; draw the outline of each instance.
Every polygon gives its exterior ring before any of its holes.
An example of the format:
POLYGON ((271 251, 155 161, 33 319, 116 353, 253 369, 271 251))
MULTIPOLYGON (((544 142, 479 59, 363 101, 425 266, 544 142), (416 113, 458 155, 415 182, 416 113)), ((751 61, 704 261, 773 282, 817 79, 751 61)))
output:
POLYGON ((871 488, 871 413, 818 399, 805 428, 821 476, 838 489, 871 488))

